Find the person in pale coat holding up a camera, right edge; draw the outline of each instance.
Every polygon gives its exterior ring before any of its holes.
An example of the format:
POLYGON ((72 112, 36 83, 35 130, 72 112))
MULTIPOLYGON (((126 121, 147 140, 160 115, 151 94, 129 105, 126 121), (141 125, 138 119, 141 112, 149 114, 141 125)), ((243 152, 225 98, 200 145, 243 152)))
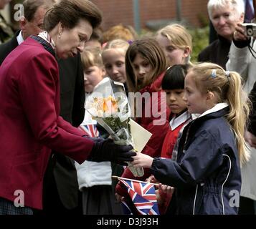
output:
MULTIPOLYGON (((249 27, 237 24, 233 41, 229 51, 229 61, 227 62, 227 70, 240 73, 243 78, 243 87, 248 94, 251 92, 256 82, 256 50, 255 36, 247 36, 249 27), (252 50, 253 49, 253 50, 252 50)), ((255 109, 255 107, 254 107, 255 109)), ((252 125, 252 124, 249 124, 252 125)), ((256 200, 256 149, 251 144, 255 141, 255 135, 252 134, 250 126, 245 132, 245 140, 249 143, 251 158, 242 169, 242 187, 240 198, 240 214, 255 214, 256 200)))

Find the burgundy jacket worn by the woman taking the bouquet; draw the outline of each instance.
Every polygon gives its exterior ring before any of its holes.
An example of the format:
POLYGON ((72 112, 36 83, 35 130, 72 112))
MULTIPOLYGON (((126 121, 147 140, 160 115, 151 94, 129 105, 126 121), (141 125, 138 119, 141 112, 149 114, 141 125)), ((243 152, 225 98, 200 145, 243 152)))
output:
POLYGON ((28 38, 0 67, 0 197, 42 209, 42 182, 51 150, 82 163, 93 142, 59 117, 57 62, 28 38))

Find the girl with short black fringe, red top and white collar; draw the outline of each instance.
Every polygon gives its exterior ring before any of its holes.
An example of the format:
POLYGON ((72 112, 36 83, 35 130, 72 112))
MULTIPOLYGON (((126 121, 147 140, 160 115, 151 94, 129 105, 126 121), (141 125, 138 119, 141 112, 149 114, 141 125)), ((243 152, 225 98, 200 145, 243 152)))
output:
MULTIPOLYGON (((184 101, 184 80, 187 71, 191 67, 189 64, 176 64, 167 69, 163 77, 162 89, 166 92, 166 104, 171 109, 169 117, 169 130, 163 140, 161 157, 176 160, 176 141, 184 126, 191 121, 191 115, 187 112, 184 101), (174 155, 173 155, 174 152, 174 155)), ((150 182, 158 182, 151 175, 150 182)), ((171 201, 174 188, 167 185, 158 185, 157 197, 158 208, 161 214, 165 214, 171 201)))

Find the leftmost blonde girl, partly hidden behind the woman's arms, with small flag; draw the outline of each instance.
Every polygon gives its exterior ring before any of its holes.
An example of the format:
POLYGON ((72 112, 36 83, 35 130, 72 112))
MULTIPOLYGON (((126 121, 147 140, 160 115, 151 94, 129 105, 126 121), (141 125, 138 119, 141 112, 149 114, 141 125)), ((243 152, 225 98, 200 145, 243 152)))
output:
MULTIPOLYGON (((105 77, 105 69, 98 47, 85 47, 81 54, 85 77, 85 102, 88 94, 93 92, 97 84, 105 77)), ((80 130, 90 137, 103 137, 97 122, 85 110, 85 118, 80 130)), ((86 160, 81 165, 75 162, 77 181, 82 191, 82 211, 84 215, 120 214, 115 205, 112 188, 112 168, 110 162, 93 162, 86 160)))

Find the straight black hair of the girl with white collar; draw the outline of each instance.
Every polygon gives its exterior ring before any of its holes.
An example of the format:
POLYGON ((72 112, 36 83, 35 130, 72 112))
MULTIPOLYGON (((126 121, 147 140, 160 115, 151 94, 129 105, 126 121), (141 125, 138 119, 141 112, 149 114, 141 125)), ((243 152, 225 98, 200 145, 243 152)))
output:
POLYGON ((167 69, 162 80, 163 90, 184 89, 184 79, 190 64, 174 64, 167 69))

